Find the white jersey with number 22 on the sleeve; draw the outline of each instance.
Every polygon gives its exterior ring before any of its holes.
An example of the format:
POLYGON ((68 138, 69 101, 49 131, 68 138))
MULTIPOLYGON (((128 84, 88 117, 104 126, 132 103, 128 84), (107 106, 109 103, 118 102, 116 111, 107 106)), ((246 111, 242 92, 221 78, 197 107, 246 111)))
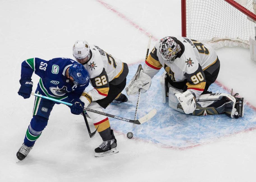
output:
POLYGON ((95 45, 90 47, 90 54, 84 67, 88 70, 90 83, 94 87, 88 94, 91 101, 95 101, 107 97, 109 84, 118 85, 124 81, 128 75, 128 65, 95 45))

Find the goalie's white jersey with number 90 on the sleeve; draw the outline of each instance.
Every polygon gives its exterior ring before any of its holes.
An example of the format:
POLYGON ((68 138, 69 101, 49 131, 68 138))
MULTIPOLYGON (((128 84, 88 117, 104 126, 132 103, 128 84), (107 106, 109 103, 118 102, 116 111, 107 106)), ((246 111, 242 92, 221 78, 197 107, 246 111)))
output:
POLYGON ((181 46, 181 52, 177 54, 176 59, 172 63, 164 60, 159 52, 158 42, 150 52, 143 72, 153 78, 163 67, 172 82, 187 80, 188 89, 198 97, 206 85, 203 71, 216 63, 217 54, 211 46, 197 40, 179 36, 176 38, 181 46))

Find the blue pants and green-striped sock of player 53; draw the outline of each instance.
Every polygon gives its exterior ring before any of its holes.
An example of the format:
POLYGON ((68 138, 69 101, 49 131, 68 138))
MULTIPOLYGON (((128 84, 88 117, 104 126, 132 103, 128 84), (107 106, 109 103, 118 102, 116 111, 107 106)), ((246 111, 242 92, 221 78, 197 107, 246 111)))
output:
MULTIPOLYGON (((36 93, 45 95, 41 91, 40 87, 36 88, 36 93)), ((62 101, 69 102, 67 97, 63 98, 62 101)), ((28 147, 34 145, 36 140, 40 137, 45 126, 47 126, 48 119, 54 104, 57 103, 51 100, 43 99, 41 97, 35 97, 33 118, 30 121, 24 138, 24 144, 28 147)))

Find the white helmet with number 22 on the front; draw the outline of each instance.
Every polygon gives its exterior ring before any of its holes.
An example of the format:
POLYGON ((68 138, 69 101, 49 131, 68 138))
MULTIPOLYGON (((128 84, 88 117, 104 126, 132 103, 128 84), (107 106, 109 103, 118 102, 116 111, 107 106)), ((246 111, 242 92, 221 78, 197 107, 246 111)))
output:
POLYGON ((73 56, 76 59, 90 57, 90 46, 86 40, 77 40, 73 46, 73 56))

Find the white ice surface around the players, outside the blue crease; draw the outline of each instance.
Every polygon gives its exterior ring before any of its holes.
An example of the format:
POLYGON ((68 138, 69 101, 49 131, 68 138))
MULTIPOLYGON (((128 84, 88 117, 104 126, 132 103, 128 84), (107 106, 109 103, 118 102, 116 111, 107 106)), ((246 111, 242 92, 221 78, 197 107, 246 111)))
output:
MULTIPOLYGON (((181 35, 180 10, 177 0, 2 0, 0 181, 255 181, 256 127, 186 150, 130 140, 117 131, 120 152, 95 158, 100 136, 89 138, 81 116, 64 105, 54 107, 29 155, 17 162, 34 103, 33 97, 17 94, 22 61, 73 58, 73 43, 85 39, 137 64, 145 57, 148 34, 153 35, 151 48, 157 39, 181 35)), ((218 82, 256 106, 256 63, 250 51, 222 48, 217 53, 218 82)), ((32 79, 34 91, 39 78, 32 79)))

